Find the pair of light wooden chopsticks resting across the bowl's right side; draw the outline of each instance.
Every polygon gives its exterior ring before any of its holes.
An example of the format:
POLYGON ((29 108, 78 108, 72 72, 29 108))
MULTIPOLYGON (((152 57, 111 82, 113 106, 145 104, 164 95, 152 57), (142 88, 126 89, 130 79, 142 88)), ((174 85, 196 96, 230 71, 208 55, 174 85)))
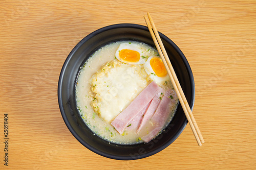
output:
POLYGON ((202 134, 201 134, 201 132, 200 132, 200 130, 198 128, 198 125, 197 125, 196 120, 195 120, 195 118, 193 116, 193 113, 191 112, 191 109, 190 109, 190 107, 189 107, 189 105, 187 103, 187 100, 185 98, 183 90, 182 90, 182 88, 180 86, 179 80, 178 80, 178 78, 177 78, 177 76, 175 74, 175 71, 173 69, 172 64, 170 63, 170 60, 169 60, 168 55, 167 55, 167 53, 165 51, 165 48, 164 48, 163 43, 161 41, 161 38, 160 38, 160 36, 158 34, 158 31, 156 29, 154 21, 153 21, 152 17, 150 16, 150 13, 147 13, 147 15, 148 15, 148 18, 150 19, 150 21, 148 21, 146 16, 144 16, 144 18, 145 18, 148 30, 150 31, 150 34, 151 34, 151 36, 153 38, 153 41, 154 41, 154 43, 156 45, 156 48, 157 48, 157 50, 159 52, 159 55, 160 55, 160 57, 163 60, 164 66, 165 66, 165 68, 166 68, 166 70, 168 72, 170 80, 171 80, 171 82, 172 82, 172 84, 174 86, 174 89, 175 89, 175 91, 176 91, 176 93, 178 95, 179 101, 180 101, 181 106, 182 106, 182 108, 184 110, 184 113, 185 113, 185 115, 187 117, 187 120, 188 120, 188 123, 190 125, 190 128, 192 129, 192 131, 194 133, 194 136, 196 137, 198 145, 201 146, 202 143, 204 143, 203 136, 202 136, 202 134), (153 27, 154 32, 152 30, 152 27, 153 27), (159 44, 160 44, 161 47, 159 46, 159 44))

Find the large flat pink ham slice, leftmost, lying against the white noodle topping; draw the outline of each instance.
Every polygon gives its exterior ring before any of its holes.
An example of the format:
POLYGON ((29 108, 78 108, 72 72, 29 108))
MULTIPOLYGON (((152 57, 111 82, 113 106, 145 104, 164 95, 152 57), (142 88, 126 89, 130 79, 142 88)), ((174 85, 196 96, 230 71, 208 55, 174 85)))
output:
POLYGON ((128 105, 111 123, 115 129, 122 134, 131 120, 151 102, 159 92, 160 87, 153 81, 142 90, 142 92, 128 105))

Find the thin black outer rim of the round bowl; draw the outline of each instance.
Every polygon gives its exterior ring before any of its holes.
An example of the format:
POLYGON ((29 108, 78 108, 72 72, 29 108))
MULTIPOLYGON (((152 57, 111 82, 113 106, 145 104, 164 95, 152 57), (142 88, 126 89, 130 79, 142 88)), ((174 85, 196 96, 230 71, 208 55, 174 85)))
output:
MULTIPOLYGON (((110 155, 110 154, 106 154, 104 152, 101 152, 99 150, 97 150, 94 147, 91 147, 90 144, 88 144, 87 142, 84 142, 80 136, 75 132, 75 130, 73 129, 73 127, 70 125, 69 120, 65 114, 65 111, 63 109, 63 105, 62 105, 62 98, 61 98, 61 84, 63 81, 63 74, 65 72, 65 69, 67 67, 67 64, 69 63, 69 60, 72 58, 73 54, 78 50, 78 48, 87 40, 89 40, 90 38, 92 38, 93 36, 100 34, 104 31, 108 31, 108 30, 112 30, 112 29, 119 29, 119 28, 134 28, 134 29, 140 29, 140 30, 144 30, 144 31, 148 31, 148 28, 146 26, 142 26, 142 25, 138 25, 135 23, 117 23, 114 25, 109 25, 109 26, 105 26, 103 28, 100 28, 98 30, 95 30, 94 32, 88 34, 86 37, 84 37, 83 39, 81 39, 72 49, 72 51, 69 53, 68 57, 66 58, 65 62, 62 65, 61 71, 60 71, 60 75, 59 75, 59 80, 58 80, 58 89, 57 89, 57 96, 58 96, 58 104, 59 104, 59 109, 62 115, 62 118, 66 124, 66 126, 68 127, 68 129, 70 130, 70 132, 72 133, 72 135, 82 144, 84 145, 84 147, 86 147, 87 149, 91 150, 92 152, 101 155, 103 157, 106 158, 111 158, 111 159, 116 159, 116 160, 133 160, 133 158, 131 156, 115 156, 115 155, 110 155)), ((148 31, 149 32, 149 31, 148 31)), ((161 37, 161 39, 164 39, 167 43, 169 43, 170 45, 173 46, 174 50, 179 54, 180 58, 182 59, 187 72, 188 72, 188 77, 189 77, 189 81, 191 84, 191 103, 190 103, 190 108, 191 110, 193 110, 194 107, 194 102, 195 102, 195 81, 194 81, 194 76, 193 76, 193 72, 189 66, 189 63, 186 59, 186 57, 184 56, 184 54, 181 52, 180 48, 172 41, 170 40, 167 36, 165 36, 164 34, 162 34, 161 32, 158 32, 159 36, 161 37)), ((186 125, 187 125, 188 121, 187 119, 185 119, 185 121, 183 122, 183 124, 181 125, 181 128, 179 129, 179 131, 175 134, 175 136, 173 137, 173 140, 169 140, 168 142, 166 142, 166 144, 164 146, 162 146, 161 148, 158 148, 157 150, 151 152, 151 153, 146 153, 144 155, 141 155, 141 158, 145 158, 148 156, 152 156, 160 151, 162 151, 163 149, 167 148, 171 143, 173 143, 179 136, 180 134, 183 132, 183 130, 185 129, 186 125)))

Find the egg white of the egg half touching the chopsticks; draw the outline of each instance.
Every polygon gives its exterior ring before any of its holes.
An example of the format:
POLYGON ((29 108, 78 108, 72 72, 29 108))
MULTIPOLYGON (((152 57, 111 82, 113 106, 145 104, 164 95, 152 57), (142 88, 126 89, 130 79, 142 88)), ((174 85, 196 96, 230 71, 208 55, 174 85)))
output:
MULTIPOLYGON (((153 68, 150 65, 150 60, 153 58, 154 56, 148 57, 147 61, 144 64, 144 69, 147 73, 148 76, 150 76, 150 78, 155 81, 158 85, 162 86, 166 81, 170 81, 170 77, 167 74, 164 77, 158 77, 155 73, 155 71, 153 70, 153 68)), ((156 57, 156 56, 155 56, 156 57)))

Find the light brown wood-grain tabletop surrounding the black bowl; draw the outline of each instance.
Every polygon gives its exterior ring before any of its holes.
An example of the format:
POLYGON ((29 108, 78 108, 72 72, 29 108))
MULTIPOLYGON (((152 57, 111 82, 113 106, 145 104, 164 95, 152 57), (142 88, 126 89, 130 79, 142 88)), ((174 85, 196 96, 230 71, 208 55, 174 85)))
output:
POLYGON ((0 13, 0 169, 255 169, 255 1, 4 1, 0 13), (172 39, 193 70, 193 110, 163 151, 112 160, 83 147, 61 117, 63 62, 85 36, 115 23, 146 25, 172 39), (4 114, 8 113, 8 166, 4 114))

